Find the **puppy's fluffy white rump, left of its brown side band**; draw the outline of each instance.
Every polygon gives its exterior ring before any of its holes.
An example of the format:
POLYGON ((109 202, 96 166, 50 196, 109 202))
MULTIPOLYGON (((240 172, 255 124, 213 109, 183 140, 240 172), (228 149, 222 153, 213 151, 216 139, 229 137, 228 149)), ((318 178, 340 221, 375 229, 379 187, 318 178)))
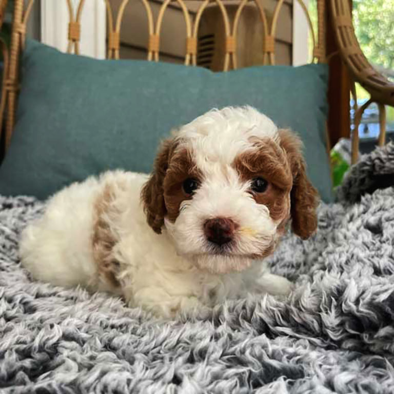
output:
POLYGON ((95 272, 93 204, 101 187, 96 178, 68 186, 48 201, 42 218, 23 231, 19 253, 34 279, 89 287, 95 272))

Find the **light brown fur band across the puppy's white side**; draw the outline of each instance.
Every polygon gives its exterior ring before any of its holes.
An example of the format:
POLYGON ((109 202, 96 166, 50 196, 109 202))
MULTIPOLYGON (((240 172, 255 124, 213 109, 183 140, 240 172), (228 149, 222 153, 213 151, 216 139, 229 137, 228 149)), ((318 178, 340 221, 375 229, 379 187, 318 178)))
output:
POLYGON ((103 192, 96 199, 94 204, 93 222, 93 258, 99 272, 99 277, 110 284, 112 287, 120 287, 116 279, 119 270, 119 262, 113 256, 113 248, 119 241, 108 223, 108 216, 118 213, 113 207, 113 186, 107 184, 103 192))

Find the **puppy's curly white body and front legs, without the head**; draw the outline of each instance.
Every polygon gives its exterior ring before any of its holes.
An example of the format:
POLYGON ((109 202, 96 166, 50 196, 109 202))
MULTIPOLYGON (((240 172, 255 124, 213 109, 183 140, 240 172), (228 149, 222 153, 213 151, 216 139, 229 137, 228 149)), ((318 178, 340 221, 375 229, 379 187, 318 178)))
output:
POLYGON ((146 223, 140 193, 147 180, 145 174, 111 171, 55 194, 44 216, 23 233, 24 266, 37 280, 124 295, 130 306, 166 317, 247 292, 289 291, 290 282, 271 275, 263 262, 242 272, 214 274, 178 255, 167 230, 157 234, 146 223), (111 252, 116 263, 105 266, 95 259, 100 246, 94 246, 94 238, 99 205, 108 193, 111 213, 105 219, 119 238, 111 252))

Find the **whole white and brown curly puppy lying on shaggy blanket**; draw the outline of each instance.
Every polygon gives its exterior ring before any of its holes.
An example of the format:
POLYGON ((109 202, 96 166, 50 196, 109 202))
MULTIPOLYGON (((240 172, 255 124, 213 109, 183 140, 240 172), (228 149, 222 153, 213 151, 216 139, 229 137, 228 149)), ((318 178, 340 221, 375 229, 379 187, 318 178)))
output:
POLYGON ((316 205, 295 135, 251 107, 212 110, 164 142, 150 176, 109 171, 55 194, 23 233, 22 264, 164 317, 283 295, 264 258, 290 217, 301 238, 316 230, 316 205))

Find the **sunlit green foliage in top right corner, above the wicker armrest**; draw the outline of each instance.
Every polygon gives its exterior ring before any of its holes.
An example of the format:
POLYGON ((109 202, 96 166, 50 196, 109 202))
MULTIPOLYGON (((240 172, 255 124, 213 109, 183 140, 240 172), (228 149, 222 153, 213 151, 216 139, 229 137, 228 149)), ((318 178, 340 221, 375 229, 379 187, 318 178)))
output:
POLYGON ((394 0, 353 0, 353 23, 372 63, 394 68, 394 0))

